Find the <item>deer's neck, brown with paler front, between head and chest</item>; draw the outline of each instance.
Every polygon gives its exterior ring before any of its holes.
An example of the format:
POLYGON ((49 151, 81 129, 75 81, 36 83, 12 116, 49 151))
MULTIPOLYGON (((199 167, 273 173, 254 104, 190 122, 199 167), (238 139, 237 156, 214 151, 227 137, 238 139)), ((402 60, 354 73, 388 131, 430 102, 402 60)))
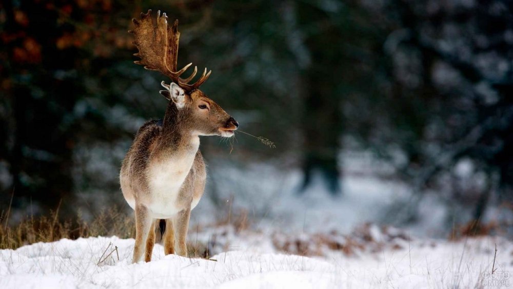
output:
POLYGON ((159 147, 172 155, 195 155, 200 145, 200 138, 190 130, 185 109, 178 110, 170 102, 164 115, 159 147))

